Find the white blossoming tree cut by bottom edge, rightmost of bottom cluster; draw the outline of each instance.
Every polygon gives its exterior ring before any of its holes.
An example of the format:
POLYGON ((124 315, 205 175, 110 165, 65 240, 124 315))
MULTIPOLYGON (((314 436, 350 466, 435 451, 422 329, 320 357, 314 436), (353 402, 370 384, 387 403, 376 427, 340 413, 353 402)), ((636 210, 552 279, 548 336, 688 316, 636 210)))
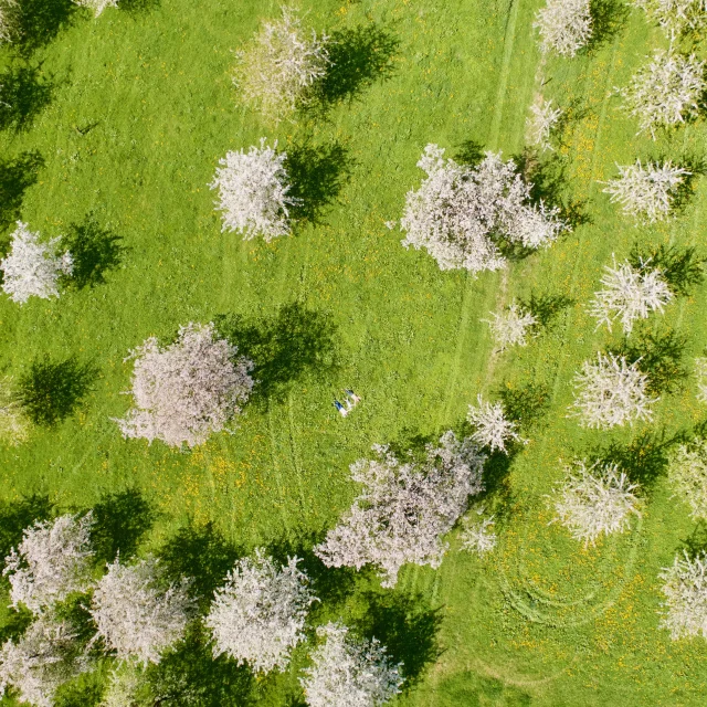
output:
POLYGON ((403 678, 379 641, 357 640, 340 623, 317 629, 324 639, 300 683, 309 707, 379 707, 400 693, 403 678))

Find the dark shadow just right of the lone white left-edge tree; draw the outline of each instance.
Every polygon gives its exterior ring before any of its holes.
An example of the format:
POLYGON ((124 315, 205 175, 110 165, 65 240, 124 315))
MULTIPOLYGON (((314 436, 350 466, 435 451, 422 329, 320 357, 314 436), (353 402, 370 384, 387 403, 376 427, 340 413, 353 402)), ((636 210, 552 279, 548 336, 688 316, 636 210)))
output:
POLYGON ((92 218, 83 223, 73 223, 68 234, 62 239, 62 246, 68 249, 74 258, 67 284, 77 289, 104 285, 105 273, 120 265, 127 250, 120 244, 122 240, 119 235, 102 229, 92 218))

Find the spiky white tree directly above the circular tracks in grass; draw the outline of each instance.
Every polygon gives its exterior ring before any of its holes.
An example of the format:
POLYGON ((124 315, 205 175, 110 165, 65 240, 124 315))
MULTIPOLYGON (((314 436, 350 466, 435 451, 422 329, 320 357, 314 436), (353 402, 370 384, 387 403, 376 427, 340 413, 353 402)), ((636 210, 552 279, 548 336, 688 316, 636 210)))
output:
POLYGON ((616 464, 574 462, 556 490, 555 510, 559 521, 576 540, 594 545, 602 535, 624 532, 631 516, 640 516, 641 499, 616 464))

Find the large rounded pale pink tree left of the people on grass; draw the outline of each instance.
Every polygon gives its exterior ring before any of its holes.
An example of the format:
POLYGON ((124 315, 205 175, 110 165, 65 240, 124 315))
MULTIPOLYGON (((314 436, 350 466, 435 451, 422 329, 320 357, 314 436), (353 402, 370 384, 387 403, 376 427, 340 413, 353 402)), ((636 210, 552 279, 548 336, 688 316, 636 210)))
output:
MULTIPOLYGON (((253 389, 253 362, 220 339, 213 324, 188 324, 161 348, 156 337, 130 354, 135 359, 135 408, 117 420, 126 437, 194 446, 223 430, 253 389)), ((127 360, 127 359, 126 359, 127 360)))

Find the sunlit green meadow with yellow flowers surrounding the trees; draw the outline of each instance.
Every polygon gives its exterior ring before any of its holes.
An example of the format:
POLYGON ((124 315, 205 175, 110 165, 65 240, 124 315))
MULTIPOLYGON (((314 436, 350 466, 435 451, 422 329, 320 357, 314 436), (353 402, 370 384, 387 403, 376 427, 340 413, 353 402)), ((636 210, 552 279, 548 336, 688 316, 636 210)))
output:
MULTIPOLYGON (((48 494, 65 510, 137 489, 157 513, 140 552, 159 551, 179 528, 210 521, 246 550, 296 545, 334 526, 350 505, 357 489, 348 465, 371 444, 457 428, 477 393, 495 399, 503 388, 544 386, 546 415, 485 500, 497 514, 496 551, 484 560, 460 552, 454 531, 439 570, 407 567, 388 592, 373 573, 362 573, 323 615, 366 624, 371 595, 373 603, 394 598, 407 608, 401 625, 412 629, 397 636, 400 654, 414 656, 419 641, 433 659, 419 666, 394 703, 401 706, 704 705, 704 641, 672 642, 658 627, 657 574, 696 531, 664 475, 646 485, 632 531, 595 548, 548 525, 546 495, 571 458, 611 441, 631 444, 644 432, 669 439, 705 415, 689 379, 662 395, 651 425, 587 431, 567 418, 567 408, 581 362, 621 338, 595 331, 585 309, 611 254, 623 258, 636 242, 704 249, 707 225, 704 177, 678 217, 655 226, 623 218, 598 181, 636 157, 703 156, 707 129, 699 119, 652 143, 635 135, 635 120, 620 109, 614 87, 626 85, 653 48, 667 45, 639 11, 626 11, 592 51, 545 60, 532 29, 540 4, 303 1, 318 29, 374 27, 397 45, 389 71, 350 101, 326 116, 278 126, 241 107, 230 78, 233 52, 277 12, 274 2, 161 0, 143 11, 109 9, 96 21, 78 10, 31 56, 2 50, 6 70, 36 67, 51 86, 51 98, 24 127, 0 133, 1 159, 28 151, 43 159, 21 205, 0 204, 3 217, 55 236, 92 214, 122 238, 124 252, 105 284, 22 307, 0 298, 4 373, 21 377, 45 355, 75 356, 98 371, 72 418, 33 429, 18 447, 0 447, 0 497, 11 505, 48 494), (538 94, 568 108, 555 158, 566 167, 566 193, 583 204, 588 222, 551 249, 476 279, 405 251, 402 234, 386 221, 400 218, 405 192, 419 183, 424 146, 437 143, 454 156, 473 140, 517 155, 538 94), (284 149, 340 147, 348 175, 317 222, 271 244, 221 233, 208 187, 228 150, 261 137, 284 149), (479 319, 531 293, 573 304, 526 348, 494 352, 479 319), (219 315, 267 320, 293 302, 335 327, 334 351, 320 371, 266 401, 254 399, 234 434, 214 435, 191 452, 122 439, 112 418, 130 404, 122 394, 130 349, 219 315), (344 420, 331 400, 345 387, 363 402, 344 420)), ((8 224, 6 242, 10 232, 8 224)), ((706 312, 700 286, 646 328, 687 337, 690 368, 707 345, 706 312)), ((658 447, 654 442, 651 453, 658 447)), ((291 674, 253 685, 249 699, 300 704, 294 671, 306 648, 300 654, 291 674)), ((64 704, 97 703, 72 699, 64 704)))

